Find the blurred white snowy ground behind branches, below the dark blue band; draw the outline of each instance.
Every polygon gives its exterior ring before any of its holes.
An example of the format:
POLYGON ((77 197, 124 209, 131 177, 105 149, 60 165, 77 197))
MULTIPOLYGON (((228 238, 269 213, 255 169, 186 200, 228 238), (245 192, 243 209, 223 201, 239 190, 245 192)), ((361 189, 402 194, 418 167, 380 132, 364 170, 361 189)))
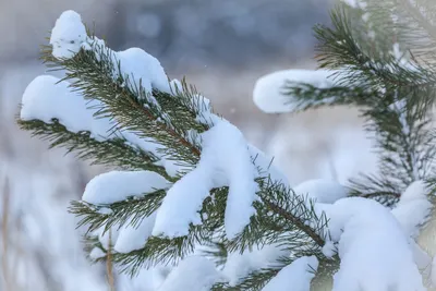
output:
MULTIPOLYGON (((291 184, 313 178, 344 182, 373 168, 370 144, 355 110, 267 116, 255 108, 255 81, 279 69, 286 68, 259 68, 250 73, 205 68, 184 74, 251 143, 276 157, 291 184)), ((26 84, 43 71, 37 63, 0 69, 0 269, 3 282, 9 284, 0 286, 0 290, 106 290, 104 268, 88 266, 74 229, 75 219, 66 213, 69 201, 78 198, 86 182, 101 169, 76 162, 73 156, 63 157, 62 150, 48 151, 44 142, 31 138, 14 123, 26 84)), ((124 286, 124 290, 143 291, 140 286, 144 287, 138 281, 124 286)))

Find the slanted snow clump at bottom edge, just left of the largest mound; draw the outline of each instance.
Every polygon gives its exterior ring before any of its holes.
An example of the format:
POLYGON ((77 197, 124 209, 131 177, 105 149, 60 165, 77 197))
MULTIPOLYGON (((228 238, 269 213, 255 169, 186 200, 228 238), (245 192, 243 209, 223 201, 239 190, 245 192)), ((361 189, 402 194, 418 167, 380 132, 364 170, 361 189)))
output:
POLYGON ((303 256, 282 268, 262 291, 310 291, 318 268, 315 256, 303 256))

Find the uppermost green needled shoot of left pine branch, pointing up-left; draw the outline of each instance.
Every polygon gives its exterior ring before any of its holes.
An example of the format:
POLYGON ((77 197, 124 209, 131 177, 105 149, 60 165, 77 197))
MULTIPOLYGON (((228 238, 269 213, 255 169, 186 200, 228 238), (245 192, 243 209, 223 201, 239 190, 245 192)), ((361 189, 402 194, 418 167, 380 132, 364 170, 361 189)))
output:
POLYGON ((66 70, 64 80, 73 81, 72 89, 81 92, 86 99, 102 102, 97 117, 116 119, 120 128, 135 132, 143 138, 156 140, 166 147, 165 155, 171 159, 187 161, 186 166, 198 161, 199 145, 189 141, 185 134, 193 129, 190 128, 192 124, 196 124, 194 130, 204 131, 205 128, 195 122, 195 112, 187 111, 178 100, 186 96, 165 93, 153 96, 141 82, 136 84, 132 76, 123 75, 120 62, 105 47, 96 46, 90 51, 82 49, 74 58, 58 63, 66 70), (158 97, 161 98, 157 100, 158 97), (162 105, 166 105, 167 111, 162 110, 162 105), (169 106, 172 106, 172 110, 168 110, 169 106), (180 110, 182 107, 184 110, 180 110), (183 117, 187 119, 182 120, 183 117))

